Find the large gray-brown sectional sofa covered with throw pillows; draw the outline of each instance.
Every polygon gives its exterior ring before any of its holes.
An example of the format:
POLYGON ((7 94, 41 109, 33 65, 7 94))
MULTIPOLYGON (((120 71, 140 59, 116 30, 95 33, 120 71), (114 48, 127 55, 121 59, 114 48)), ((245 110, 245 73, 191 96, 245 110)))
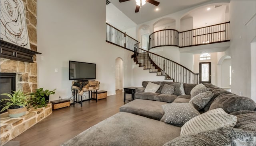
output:
POLYGON ((134 101, 62 146, 256 146, 252 99, 212 84, 203 85, 207 91, 197 90, 202 93, 194 90, 198 84, 182 84, 185 95, 166 95, 162 88, 174 82, 152 83, 160 85, 156 93, 144 92, 148 81, 142 82, 134 101), (196 108, 191 101, 206 92, 210 98, 203 98, 204 107, 196 108), (200 131, 204 128, 209 130, 200 131))

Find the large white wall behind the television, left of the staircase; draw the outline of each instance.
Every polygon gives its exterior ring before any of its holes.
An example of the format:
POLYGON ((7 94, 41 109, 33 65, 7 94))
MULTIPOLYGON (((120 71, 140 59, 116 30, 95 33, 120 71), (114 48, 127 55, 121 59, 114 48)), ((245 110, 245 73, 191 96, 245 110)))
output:
POLYGON ((50 101, 58 95, 71 97, 69 60, 96 63, 100 90, 113 95, 115 59, 120 57, 124 62, 124 86, 132 84, 132 53, 106 43, 106 4, 102 1, 38 0, 37 40, 38 52, 42 53, 37 56, 38 88, 57 88, 50 101))

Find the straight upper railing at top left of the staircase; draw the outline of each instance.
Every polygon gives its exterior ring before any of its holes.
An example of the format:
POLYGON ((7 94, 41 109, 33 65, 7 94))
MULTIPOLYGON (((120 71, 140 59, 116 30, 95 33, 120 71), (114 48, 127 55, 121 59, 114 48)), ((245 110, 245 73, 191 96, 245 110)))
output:
POLYGON ((106 41, 131 51, 134 51, 134 45, 138 43, 136 39, 108 23, 106 23, 106 41))

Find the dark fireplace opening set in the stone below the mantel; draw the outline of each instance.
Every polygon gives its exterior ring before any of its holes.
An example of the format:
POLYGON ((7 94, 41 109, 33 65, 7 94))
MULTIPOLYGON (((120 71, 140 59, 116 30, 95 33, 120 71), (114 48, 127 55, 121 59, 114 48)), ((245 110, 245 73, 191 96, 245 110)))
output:
MULTIPOLYGON (((12 93, 12 91, 16 90, 16 73, 0 73, 0 94, 2 93, 12 93)), ((0 95, 0 99, 9 98, 5 95, 0 95)), ((6 101, 1 102, 0 109, 2 109, 2 105, 5 104, 6 101)), ((7 110, 2 111, 1 113, 6 112, 7 110)))

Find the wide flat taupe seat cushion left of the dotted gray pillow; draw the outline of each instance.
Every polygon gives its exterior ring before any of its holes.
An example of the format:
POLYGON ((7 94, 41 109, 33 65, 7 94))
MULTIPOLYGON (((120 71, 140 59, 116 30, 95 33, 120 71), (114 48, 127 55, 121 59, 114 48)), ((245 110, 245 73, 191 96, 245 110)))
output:
POLYGON ((119 108, 120 112, 133 113, 150 119, 160 120, 164 115, 162 105, 166 102, 135 99, 119 108))

